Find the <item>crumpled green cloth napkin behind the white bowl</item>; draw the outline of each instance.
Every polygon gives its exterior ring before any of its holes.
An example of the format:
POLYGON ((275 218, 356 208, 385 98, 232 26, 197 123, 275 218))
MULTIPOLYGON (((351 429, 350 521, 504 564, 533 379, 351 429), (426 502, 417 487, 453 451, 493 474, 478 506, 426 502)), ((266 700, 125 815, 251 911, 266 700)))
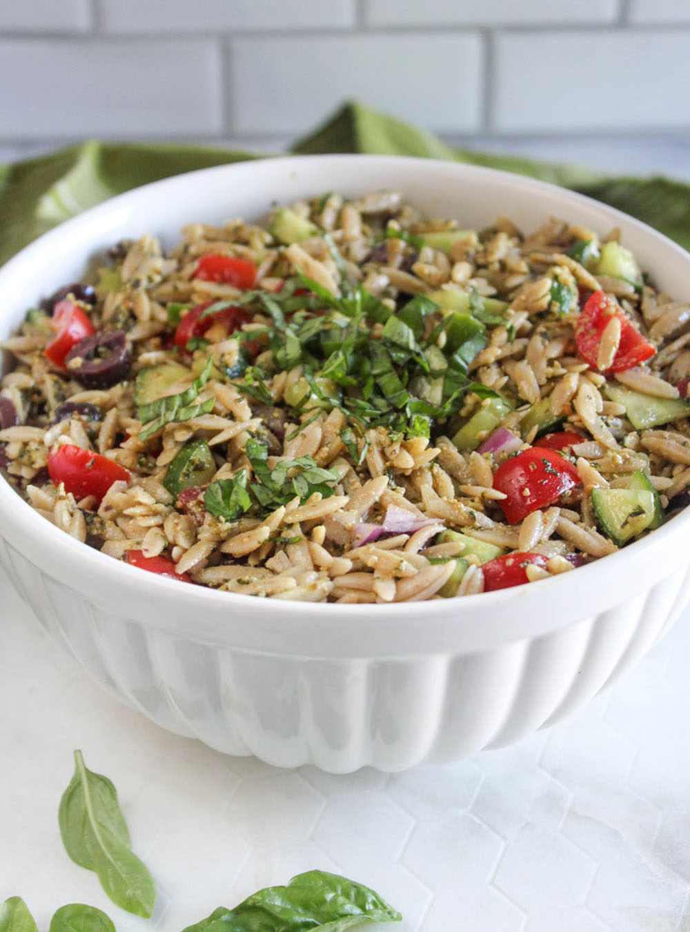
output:
MULTIPOLYGON (((445 158, 515 171, 611 204, 690 249, 690 185, 669 178, 613 177, 528 158, 464 152, 361 103, 345 104, 323 127, 299 140, 292 152, 445 158)), ((183 171, 248 158, 262 157, 197 145, 91 141, 0 167, 0 264, 51 226, 122 191, 183 171)))

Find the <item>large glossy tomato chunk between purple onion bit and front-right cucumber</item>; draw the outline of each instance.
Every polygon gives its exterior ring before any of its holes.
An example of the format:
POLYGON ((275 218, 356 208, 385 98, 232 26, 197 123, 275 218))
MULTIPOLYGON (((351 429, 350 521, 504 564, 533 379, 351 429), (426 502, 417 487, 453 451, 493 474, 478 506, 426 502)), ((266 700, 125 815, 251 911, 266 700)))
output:
POLYGON ((517 524, 538 508, 552 505, 563 492, 578 486, 580 476, 572 463, 555 450, 532 446, 502 463, 493 487, 507 498, 499 501, 508 524, 517 524))

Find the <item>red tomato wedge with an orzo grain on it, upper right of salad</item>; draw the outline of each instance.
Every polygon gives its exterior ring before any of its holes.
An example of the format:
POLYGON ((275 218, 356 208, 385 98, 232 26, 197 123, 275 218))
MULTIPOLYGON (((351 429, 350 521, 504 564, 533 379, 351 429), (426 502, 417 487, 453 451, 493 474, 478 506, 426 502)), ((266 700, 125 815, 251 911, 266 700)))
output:
POLYGON ((603 292, 594 292, 580 311, 575 324, 575 343, 586 363, 597 369, 597 354, 604 327, 612 317, 620 321, 620 343, 614 356, 614 362, 607 372, 625 372, 633 366, 643 363, 654 356, 656 349, 647 343, 641 333, 635 329, 623 311, 603 292))

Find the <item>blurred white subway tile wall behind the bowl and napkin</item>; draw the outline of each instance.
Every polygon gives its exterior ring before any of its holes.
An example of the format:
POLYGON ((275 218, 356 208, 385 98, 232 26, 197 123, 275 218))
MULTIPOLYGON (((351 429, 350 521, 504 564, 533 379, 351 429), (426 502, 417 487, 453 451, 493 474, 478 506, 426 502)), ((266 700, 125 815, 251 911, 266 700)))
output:
POLYGON ((690 0, 0 0, 0 160, 283 149, 358 98, 452 143, 690 176, 690 0))

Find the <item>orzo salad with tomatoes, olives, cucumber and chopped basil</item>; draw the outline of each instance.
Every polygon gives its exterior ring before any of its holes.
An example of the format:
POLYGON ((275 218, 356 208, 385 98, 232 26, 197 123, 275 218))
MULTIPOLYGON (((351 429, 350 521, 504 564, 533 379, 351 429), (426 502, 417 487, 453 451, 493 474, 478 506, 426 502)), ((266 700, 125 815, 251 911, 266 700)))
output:
POLYGON ((77 540, 231 593, 570 572, 690 485, 690 307, 603 232, 375 192, 119 242, 5 341, 0 468, 77 540))

